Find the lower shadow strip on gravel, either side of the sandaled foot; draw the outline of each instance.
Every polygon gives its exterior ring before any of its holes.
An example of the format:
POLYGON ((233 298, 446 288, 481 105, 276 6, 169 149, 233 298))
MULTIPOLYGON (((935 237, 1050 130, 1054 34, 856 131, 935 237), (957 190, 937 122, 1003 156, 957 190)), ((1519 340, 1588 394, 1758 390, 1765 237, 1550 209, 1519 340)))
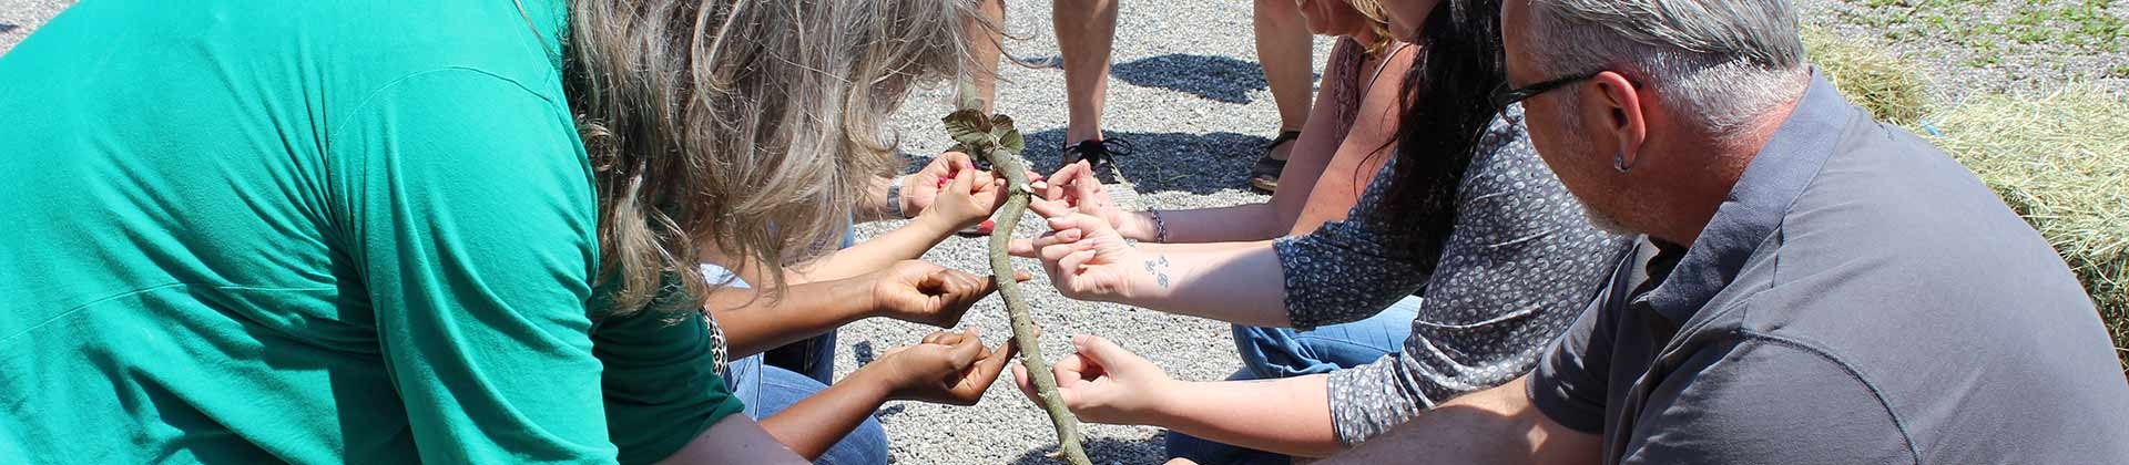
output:
MULTIPOLYGON (((1116 157, 1116 168, 1124 180, 1137 185, 1139 193, 1188 191, 1207 195, 1216 191, 1250 189, 1250 166, 1262 155, 1271 138, 1233 132, 1109 132, 1111 140, 1128 140, 1137 151, 1116 157)), ((1064 147, 1064 130, 1043 130, 1026 134, 1030 170, 1050 174, 1058 168, 1058 149, 1064 147)))

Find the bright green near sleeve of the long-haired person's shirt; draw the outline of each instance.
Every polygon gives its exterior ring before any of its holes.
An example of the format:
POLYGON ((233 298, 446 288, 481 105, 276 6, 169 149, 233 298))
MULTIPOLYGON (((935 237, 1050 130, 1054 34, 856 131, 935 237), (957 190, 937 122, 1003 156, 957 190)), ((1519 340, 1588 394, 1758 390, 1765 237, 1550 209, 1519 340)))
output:
POLYGON ((596 204, 564 106, 432 70, 375 91, 328 153, 422 461, 613 461, 583 306, 596 204))

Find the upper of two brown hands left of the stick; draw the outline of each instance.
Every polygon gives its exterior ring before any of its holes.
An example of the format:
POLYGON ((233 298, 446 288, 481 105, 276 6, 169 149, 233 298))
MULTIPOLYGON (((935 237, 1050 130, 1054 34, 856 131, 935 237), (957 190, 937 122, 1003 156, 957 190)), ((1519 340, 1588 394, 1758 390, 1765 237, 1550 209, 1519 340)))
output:
MULTIPOLYGON (((922 259, 896 261, 888 270, 869 274, 873 280, 873 312, 896 321, 933 327, 960 325, 960 314, 999 291, 990 276, 975 276, 962 270, 933 265, 922 259)), ((1013 278, 1030 276, 1013 272, 1013 278)))

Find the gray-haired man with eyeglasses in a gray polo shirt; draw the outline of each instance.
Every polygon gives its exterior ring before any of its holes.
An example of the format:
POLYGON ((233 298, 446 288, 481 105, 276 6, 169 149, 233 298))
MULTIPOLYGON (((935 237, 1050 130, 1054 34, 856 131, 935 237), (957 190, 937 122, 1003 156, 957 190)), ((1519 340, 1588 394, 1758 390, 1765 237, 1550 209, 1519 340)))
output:
POLYGON ((1788 2, 1509 0, 1503 34, 1495 102, 1644 240, 1533 374, 1341 461, 2129 461, 2067 265, 1812 70, 1788 2))

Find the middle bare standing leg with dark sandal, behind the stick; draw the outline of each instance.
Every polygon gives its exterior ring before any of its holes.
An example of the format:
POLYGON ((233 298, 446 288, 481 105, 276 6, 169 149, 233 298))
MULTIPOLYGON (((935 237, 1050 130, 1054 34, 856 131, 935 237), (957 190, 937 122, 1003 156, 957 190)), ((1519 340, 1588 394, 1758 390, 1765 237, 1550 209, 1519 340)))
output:
POLYGON ((1111 155, 1128 149, 1111 147, 1101 134, 1101 110, 1109 98, 1109 51, 1116 47, 1118 0, 1054 0, 1052 23, 1058 34, 1058 55, 1064 57, 1064 163, 1086 159, 1094 176, 1113 183, 1111 155))

